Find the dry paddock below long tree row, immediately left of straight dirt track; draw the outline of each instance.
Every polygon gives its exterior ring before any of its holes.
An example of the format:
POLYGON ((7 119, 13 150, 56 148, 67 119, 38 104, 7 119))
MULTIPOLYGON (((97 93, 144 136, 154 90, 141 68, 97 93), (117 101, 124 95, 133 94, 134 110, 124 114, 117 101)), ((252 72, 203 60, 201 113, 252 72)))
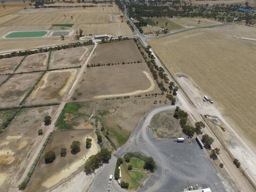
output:
POLYGON ((82 65, 93 45, 52 51, 49 68, 75 67, 82 65))

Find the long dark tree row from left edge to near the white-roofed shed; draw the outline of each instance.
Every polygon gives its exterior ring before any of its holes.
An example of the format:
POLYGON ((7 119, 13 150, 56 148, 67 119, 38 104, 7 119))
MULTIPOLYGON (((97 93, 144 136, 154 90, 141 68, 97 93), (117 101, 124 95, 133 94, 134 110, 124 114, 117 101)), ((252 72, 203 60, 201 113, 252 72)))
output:
POLYGON ((49 52, 50 50, 53 51, 53 50, 69 49, 69 48, 81 47, 81 46, 92 45, 92 44, 93 44, 93 41, 89 40, 89 41, 83 41, 81 43, 76 42, 76 43, 64 44, 64 45, 59 45, 59 46, 49 47, 49 48, 38 48, 36 50, 11 52, 6 55, 0 55, 0 59, 17 57, 17 56, 25 56, 25 55, 33 55, 33 54, 41 53, 41 52, 49 52))

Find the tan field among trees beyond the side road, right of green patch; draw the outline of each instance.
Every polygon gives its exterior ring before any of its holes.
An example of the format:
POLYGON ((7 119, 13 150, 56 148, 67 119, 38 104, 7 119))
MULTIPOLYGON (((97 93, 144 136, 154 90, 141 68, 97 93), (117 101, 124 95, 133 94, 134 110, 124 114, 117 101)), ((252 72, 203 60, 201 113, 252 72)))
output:
MULTIPOLYGON (((204 1, 205 2, 205 1, 204 1)), ((168 18, 168 20, 179 24, 180 26, 183 26, 185 28, 191 28, 191 27, 200 27, 200 26, 209 26, 209 25, 216 25, 216 24, 221 24, 221 22, 215 21, 215 20, 210 20, 210 19, 205 19, 205 18, 200 18, 201 22, 198 24, 198 18, 168 18)), ((171 28, 170 28, 171 29, 171 28)))

